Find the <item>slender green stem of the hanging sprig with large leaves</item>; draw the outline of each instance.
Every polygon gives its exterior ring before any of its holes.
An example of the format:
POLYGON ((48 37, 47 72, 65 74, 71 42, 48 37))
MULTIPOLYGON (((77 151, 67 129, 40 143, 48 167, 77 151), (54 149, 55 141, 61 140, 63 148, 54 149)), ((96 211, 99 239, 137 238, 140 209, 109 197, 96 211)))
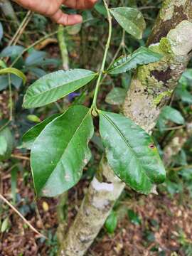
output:
POLYGON ((108 50, 110 48, 110 41, 111 41, 111 38, 112 38, 112 16, 110 14, 110 9, 107 5, 106 0, 103 0, 103 3, 105 5, 105 9, 107 11, 107 19, 108 19, 108 22, 109 22, 109 34, 108 34, 108 39, 107 39, 107 43, 106 43, 106 46, 105 46, 105 53, 104 53, 104 56, 103 56, 103 59, 102 59, 102 65, 101 65, 101 68, 100 68, 100 71, 99 71, 99 76, 98 76, 96 87, 95 87, 95 94, 94 94, 93 101, 92 101, 92 110, 93 110, 92 113, 94 115, 97 113, 97 95, 98 95, 101 80, 102 80, 102 74, 103 74, 103 71, 104 71, 104 68, 105 68, 107 53, 108 53, 108 50))

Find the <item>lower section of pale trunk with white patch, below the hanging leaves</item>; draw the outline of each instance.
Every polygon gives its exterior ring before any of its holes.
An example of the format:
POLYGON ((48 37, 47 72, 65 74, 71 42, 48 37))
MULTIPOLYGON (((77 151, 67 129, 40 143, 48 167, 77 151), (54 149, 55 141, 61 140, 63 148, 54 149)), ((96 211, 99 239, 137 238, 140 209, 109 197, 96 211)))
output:
POLYGON ((103 158, 100 162, 100 170, 90 183, 78 215, 60 247, 60 256, 85 254, 100 232, 123 189, 124 183, 114 176, 107 161, 103 158), (106 181, 102 182, 101 179, 106 181))

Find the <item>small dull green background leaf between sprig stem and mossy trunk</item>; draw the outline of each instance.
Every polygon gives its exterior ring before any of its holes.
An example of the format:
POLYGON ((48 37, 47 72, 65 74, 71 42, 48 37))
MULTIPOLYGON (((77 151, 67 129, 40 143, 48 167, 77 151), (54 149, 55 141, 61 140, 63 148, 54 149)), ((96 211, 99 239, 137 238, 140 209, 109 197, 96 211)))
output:
POLYGON ((108 94, 105 101, 111 105, 121 105, 126 97, 127 90, 120 87, 114 87, 108 94))

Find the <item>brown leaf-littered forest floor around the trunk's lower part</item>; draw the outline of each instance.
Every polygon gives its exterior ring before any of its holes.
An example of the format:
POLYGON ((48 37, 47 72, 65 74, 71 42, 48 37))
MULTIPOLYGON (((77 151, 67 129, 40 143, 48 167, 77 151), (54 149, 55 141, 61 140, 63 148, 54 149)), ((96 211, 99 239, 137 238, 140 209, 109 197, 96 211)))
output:
MULTIPOLYGON (((6 171, 1 176, 4 181, 4 196, 8 199, 11 193, 10 178, 6 171)), ((85 188, 87 184, 87 181, 80 181, 78 186, 69 192, 69 222, 73 220, 80 206, 84 193, 82 185, 85 188)), ((31 178, 30 182, 25 184, 21 175, 18 177, 17 187, 19 196, 25 199, 18 201, 16 207, 49 239, 39 238, 13 210, 4 205, 4 215, 9 216, 9 231, 1 233, 0 255, 55 255, 57 242, 54 233, 58 225, 58 201, 52 198, 36 200, 31 178)), ((189 196, 180 195, 173 198, 166 193, 160 193, 159 196, 136 196, 132 201, 134 203, 129 203, 130 199, 125 198, 121 203, 127 206, 127 210, 134 210, 134 218, 130 220, 126 214, 112 235, 107 234, 103 228, 87 256, 192 255, 192 201, 189 196)))

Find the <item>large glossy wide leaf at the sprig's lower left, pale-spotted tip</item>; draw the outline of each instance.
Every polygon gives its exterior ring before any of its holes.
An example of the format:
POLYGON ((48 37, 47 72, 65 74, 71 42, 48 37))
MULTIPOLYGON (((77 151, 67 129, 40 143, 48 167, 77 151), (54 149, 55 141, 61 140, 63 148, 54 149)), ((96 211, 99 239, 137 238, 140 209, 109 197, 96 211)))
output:
POLYGON ((70 107, 43 129, 31 149, 38 195, 57 196, 78 183, 90 160, 93 132, 90 109, 83 106, 70 107))

